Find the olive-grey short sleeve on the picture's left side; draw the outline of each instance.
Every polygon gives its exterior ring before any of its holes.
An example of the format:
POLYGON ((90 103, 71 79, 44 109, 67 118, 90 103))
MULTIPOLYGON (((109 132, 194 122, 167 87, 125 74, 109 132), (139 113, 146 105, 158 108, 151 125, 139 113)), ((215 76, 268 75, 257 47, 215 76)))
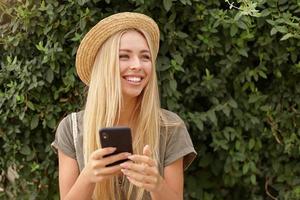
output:
POLYGON ((70 115, 65 117, 58 125, 52 148, 62 151, 67 156, 76 159, 70 115))

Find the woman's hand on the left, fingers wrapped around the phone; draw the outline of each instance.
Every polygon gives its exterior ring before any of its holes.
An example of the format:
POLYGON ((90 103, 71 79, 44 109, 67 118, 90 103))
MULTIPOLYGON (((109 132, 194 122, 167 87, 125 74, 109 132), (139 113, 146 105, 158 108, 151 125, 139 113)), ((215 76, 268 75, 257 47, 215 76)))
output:
POLYGON ((107 165, 119 160, 127 159, 130 153, 119 153, 116 155, 105 157, 105 155, 111 154, 116 150, 115 147, 107 147, 97 149, 90 157, 86 167, 83 169, 83 173, 88 177, 91 183, 101 182, 106 178, 114 176, 120 173, 121 166, 115 165, 106 167, 107 165))

